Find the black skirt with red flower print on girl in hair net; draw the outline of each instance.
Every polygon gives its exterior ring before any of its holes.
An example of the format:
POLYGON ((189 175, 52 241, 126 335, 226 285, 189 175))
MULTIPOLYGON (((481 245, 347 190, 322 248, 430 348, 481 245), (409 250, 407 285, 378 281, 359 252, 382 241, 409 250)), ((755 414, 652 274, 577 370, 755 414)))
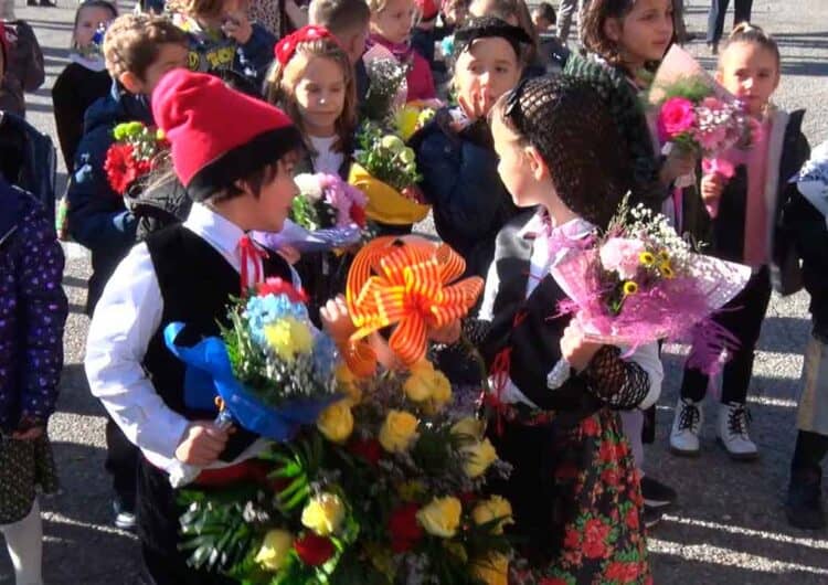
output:
POLYGON ((512 503, 513 584, 649 584, 638 471, 618 414, 602 408, 580 423, 516 421, 492 433, 511 477, 491 486, 512 503))

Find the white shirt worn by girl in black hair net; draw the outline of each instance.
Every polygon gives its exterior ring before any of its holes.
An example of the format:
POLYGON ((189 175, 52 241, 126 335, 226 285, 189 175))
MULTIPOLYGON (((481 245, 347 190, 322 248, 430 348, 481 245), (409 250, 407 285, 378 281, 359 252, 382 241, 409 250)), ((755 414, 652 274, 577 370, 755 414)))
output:
MULTIPOLYGON (((543 230, 543 221, 544 220, 541 213, 535 214, 517 233, 516 237, 529 237, 532 234, 540 234, 543 230)), ((570 238, 577 240, 588 236, 593 233, 595 227, 591 223, 578 217, 555 227, 553 232, 563 231, 570 238)), ((540 284, 541 279, 543 279, 548 274, 552 274, 552 277, 555 278, 558 285, 561 286, 561 289, 565 292, 565 287, 563 286, 562 280, 555 276, 555 266, 566 256, 566 254, 570 253, 570 249, 571 248, 562 247, 561 249, 556 251, 554 256, 551 256, 550 246, 546 244, 546 240, 544 237, 534 238, 532 243, 532 254, 529 259, 530 274, 529 278, 527 279, 527 297, 532 294, 532 291, 540 284)), ((484 300, 480 305, 479 312, 480 319, 488 321, 492 320, 495 297, 497 296, 499 287, 500 280, 498 278, 495 263, 492 263, 486 277, 486 290, 484 292, 484 300)), ((555 307, 550 307, 550 312, 553 312, 555 309, 555 307)), ((626 353, 628 348, 620 348, 620 350, 623 353, 626 353)), ((649 392, 638 405, 639 408, 647 408, 658 400, 658 396, 661 393, 661 383, 665 377, 664 365, 661 364, 661 359, 658 354, 658 343, 647 343, 646 345, 640 345, 630 355, 625 355, 624 359, 636 362, 647 372, 647 375, 649 376, 649 392)), ((552 364, 552 368, 550 368, 550 373, 552 373, 555 366, 558 366, 558 364, 552 364)), ((490 383, 492 381, 490 380, 490 383)), ((554 390, 550 390, 550 392, 554 392, 554 390)), ((511 379, 507 380, 507 383, 501 392, 500 400, 509 404, 523 403, 533 408, 538 408, 538 405, 529 400, 526 394, 523 394, 520 389, 514 385, 511 379)))

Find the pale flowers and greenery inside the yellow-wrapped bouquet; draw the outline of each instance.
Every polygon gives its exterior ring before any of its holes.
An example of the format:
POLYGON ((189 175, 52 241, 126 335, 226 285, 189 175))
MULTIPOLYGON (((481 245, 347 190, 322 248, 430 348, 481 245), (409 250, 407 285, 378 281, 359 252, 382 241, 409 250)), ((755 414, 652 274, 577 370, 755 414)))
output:
POLYGON ((357 143, 359 148, 353 158, 374 179, 397 191, 422 180, 414 151, 401 138, 385 135, 376 124, 363 124, 357 134, 357 143))

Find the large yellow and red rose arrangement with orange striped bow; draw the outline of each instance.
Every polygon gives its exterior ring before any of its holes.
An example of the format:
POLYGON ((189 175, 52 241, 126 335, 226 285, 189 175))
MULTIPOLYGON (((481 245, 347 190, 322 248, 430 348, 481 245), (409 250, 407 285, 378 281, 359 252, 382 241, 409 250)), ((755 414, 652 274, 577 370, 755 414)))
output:
MULTIPOLYGON (((358 255, 354 284, 388 244, 358 255)), ((423 299, 439 280, 417 268, 424 254, 414 243, 394 263, 423 299)), ((429 257, 463 272, 450 249, 431 245, 429 257)), ((450 290, 437 288, 433 304, 465 306, 450 290)), ((369 310, 372 300, 351 302, 369 310)), ((274 445, 246 483, 184 492, 191 563, 250 584, 505 583, 511 506, 482 489, 509 470, 482 423, 453 407, 448 380, 424 359, 367 377, 339 364, 337 390, 316 426, 274 445)))

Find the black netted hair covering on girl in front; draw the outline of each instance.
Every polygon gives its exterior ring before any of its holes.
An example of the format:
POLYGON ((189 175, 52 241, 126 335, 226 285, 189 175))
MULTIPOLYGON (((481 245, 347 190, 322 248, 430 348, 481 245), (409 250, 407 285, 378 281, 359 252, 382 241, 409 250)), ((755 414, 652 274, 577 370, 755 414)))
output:
POLYGON ((606 228, 631 189, 628 148, 598 93, 563 75, 521 82, 503 103, 503 119, 538 149, 564 204, 606 228))

